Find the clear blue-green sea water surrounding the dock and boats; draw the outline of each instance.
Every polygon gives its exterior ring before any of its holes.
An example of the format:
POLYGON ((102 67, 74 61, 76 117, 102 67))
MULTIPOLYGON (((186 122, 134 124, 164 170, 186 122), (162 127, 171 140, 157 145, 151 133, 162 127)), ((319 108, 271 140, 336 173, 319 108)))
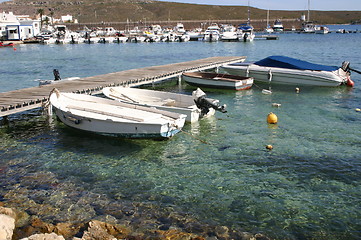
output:
MULTIPOLYGON (((53 79, 53 69, 81 78, 214 56, 349 61, 360 71, 361 25, 329 28, 358 33, 0 48, 0 92, 38 86, 53 79)), ((271 85, 272 94, 258 82, 244 91, 204 88, 227 113, 188 123, 166 141, 79 132, 42 109, 1 119, 0 202, 22 212, 23 222, 98 219, 139 233, 177 229, 209 239, 240 238, 236 232, 361 239, 361 75, 351 78, 353 88, 271 85), (277 124, 267 123, 270 112, 277 124)), ((142 87, 195 89, 178 79, 142 87)))

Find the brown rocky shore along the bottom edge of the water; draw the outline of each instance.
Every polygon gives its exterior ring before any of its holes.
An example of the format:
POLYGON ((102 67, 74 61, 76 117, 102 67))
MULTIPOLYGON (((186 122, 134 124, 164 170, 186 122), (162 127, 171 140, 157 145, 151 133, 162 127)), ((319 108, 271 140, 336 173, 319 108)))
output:
MULTIPOLYGON (((4 207, 0 202, 1 240, 115 240, 115 239, 171 239, 171 240, 269 240, 262 234, 230 231, 225 226, 208 229, 207 233, 184 232, 176 228, 158 227, 140 231, 136 226, 110 224, 99 220, 86 223, 51 224, 25 212, 4 207)), ((161 220, 158 220, 161 221, 161 220)), ((165 221, 165 220, 163 220, 165 221)))

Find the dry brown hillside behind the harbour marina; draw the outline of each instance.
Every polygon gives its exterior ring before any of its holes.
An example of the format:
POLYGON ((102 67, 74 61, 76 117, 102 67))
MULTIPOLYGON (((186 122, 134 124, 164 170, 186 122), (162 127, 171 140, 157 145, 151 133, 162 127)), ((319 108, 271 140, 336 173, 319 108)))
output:
MULTIPOLYGON (((38 9, 60 18, 72 15, 79 23, 183 20, 244 20, 246 6, 211 6, 146 0, 12 0, 0 3, 1 11, 35 16, 38 9)), ((251 19, 265 19, 267 11, 250 8, 251 19)), ((270 19, 297 19, 306 11, 271 11, 270 19)), ((361 20, 361 11, 311 11, 320 24, 344 24, 361 20)))

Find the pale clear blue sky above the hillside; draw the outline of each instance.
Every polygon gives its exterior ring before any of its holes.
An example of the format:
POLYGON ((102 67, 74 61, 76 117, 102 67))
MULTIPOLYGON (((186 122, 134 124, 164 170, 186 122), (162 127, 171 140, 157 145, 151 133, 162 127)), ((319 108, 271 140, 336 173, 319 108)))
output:
MULTIPOLYGON (((159 0, 163 2, 248 6, 248 0, 159 0)), ((249 0, 251 7, 270 10, 307 10, 308 0, 249 0)), ((361 0, 310 0, 311 10, 361 11, 361 0)))

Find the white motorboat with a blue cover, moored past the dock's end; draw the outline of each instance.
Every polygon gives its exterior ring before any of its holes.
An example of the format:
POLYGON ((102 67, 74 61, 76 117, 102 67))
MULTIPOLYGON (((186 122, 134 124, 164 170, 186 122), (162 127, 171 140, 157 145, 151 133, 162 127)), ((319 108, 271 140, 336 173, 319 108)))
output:
POLYGON ((232 63, 220 67, 220 71, 232 75, 253 77, 254 81, 310 85, 310 86, 353 86, 349 63, 341 67, 326 66, 286 56, 270 56, 257 62, 232 63))

